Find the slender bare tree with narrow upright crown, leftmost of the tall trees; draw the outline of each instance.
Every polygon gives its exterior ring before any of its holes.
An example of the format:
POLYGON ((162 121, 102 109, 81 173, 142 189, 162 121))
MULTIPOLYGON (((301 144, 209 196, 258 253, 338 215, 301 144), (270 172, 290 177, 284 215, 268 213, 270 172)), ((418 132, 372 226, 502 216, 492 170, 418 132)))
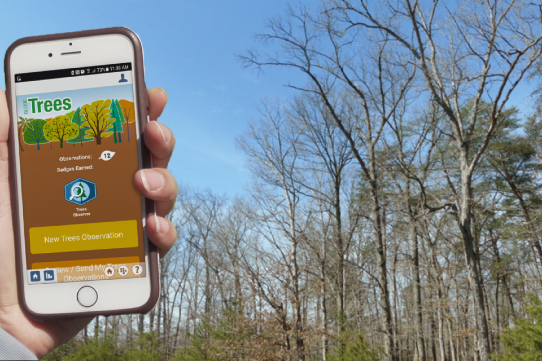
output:
POLYGON ((308 226, 302 216, 303 174, 299 172, 302 160, 299 154, 300 134, 287 121, 280 106, 264 106, 263 119, 251 124, 238 146, 249 157, 252 172, 259 182, 255 200, 264 211, 266 230, 261 232, 287 267, 292 292, 294 338, 296 358, 305 359, 304 323, 302 319, 302 290, 300 243, 308 226), (284 252, 281 238, 289 243, 284 252))

